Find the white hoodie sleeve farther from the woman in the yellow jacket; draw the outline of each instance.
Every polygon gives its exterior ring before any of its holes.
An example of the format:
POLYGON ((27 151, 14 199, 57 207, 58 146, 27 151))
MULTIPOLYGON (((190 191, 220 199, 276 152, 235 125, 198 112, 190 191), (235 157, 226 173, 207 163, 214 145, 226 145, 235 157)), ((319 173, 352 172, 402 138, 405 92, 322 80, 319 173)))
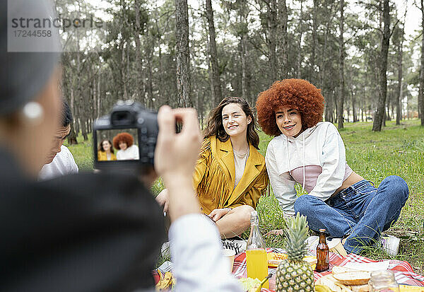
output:
POLYGON ((345 147, 334 124, 330 124, 326 131, 322 159, 322 173, 318 176, 317 185, 310 195, 325 201, 341 187, 346 171, 345 147))

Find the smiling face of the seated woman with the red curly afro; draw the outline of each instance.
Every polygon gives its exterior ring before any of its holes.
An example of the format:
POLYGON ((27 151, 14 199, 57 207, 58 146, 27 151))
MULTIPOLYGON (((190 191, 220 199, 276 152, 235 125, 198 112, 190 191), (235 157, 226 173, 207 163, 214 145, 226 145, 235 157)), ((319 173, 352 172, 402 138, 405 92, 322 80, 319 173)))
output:
POLYGON ((292 107, 278 107, 276 109, 276 122, 281 133, 288 137, 297 137, 302 133, 302 117, 300 112, 292 107))

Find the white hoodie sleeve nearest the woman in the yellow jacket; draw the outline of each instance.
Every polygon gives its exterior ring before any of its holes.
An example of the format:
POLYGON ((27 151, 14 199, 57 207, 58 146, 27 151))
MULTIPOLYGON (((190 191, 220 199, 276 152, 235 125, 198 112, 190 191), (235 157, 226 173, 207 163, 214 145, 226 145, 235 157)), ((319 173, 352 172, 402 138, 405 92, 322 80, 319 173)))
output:
POLYGON ((283 209, 284 216, 295 215, 295 201, 297 199, 295 190, 295 181, 290 178, 288 173, 278 175, 277 163, 284 163, 283 161, 276 161, 273 152, 273 146, 269 145, 266 148, 265 154, 266 171, 268 172, 269 182, 274 195, 283 209))

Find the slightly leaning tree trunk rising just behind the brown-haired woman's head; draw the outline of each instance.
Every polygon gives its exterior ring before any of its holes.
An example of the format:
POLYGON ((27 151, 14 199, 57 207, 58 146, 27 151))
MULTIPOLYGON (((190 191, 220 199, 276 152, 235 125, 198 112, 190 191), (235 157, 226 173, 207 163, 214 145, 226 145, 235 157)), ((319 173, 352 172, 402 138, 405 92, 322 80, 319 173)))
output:
POLYGON ((211 82, 212 107, 223 99, 220 88, 220 73, 218 66, 218 52, 216 49, 215 24, 213 22, 212 0, 206 0, 206 18, 208 20, 209 33, 209 76, 211 82))

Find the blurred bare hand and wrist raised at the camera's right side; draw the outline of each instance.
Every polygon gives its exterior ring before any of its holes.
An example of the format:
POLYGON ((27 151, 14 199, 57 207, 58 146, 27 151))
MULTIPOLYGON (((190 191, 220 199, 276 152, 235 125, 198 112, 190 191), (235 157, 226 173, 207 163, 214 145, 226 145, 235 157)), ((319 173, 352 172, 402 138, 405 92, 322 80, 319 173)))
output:
POLYGON ((158 113, 158 124, 155 170, 163 177, 168 189, 169 214, 175 221, 179 216, 200 212, 192 186, 201 146, 199 122, 194 109, 172 110, 164 105, 158 113), (175 122, 182 122, 179 133, 175 131, 175 122))

